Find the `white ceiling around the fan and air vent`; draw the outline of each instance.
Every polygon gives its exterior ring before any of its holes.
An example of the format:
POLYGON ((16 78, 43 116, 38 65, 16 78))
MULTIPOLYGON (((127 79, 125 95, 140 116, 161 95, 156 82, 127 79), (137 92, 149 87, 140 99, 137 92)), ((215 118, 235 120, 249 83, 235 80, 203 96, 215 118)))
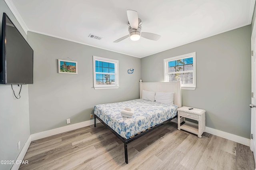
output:
POLYGON ((251 24, 255 0, 5 0, 25 31, 145 57, 251 24), (136 10, 142 32, 130 38, 126 10, 136 10), (24 22, 23 22, 23 21, 24 22), (89 38, 89 34, 102 40, 89 38))

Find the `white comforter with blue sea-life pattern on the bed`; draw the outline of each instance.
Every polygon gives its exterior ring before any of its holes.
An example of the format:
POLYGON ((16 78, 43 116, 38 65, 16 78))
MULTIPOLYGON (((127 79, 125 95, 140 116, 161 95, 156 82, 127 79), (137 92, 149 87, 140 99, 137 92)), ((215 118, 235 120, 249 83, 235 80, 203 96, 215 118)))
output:
POLYGON ((149 127, 158 125, 177 115, 178 106, 135 99, 94 106, 94 114, 123 138, 130 138, 149 127), (132 118, 122 117, 124 107, 134 110, 132 118))

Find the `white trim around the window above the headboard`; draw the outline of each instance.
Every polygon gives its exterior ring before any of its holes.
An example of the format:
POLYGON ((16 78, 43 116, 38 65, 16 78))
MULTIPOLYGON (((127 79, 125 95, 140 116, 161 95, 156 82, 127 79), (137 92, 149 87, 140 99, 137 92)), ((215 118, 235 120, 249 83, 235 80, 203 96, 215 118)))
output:
MULTIPOLYGON (((164 82, 168 82, 168 62, 178 60, 178 59, 188 58, 188 57, 193 57, 193 72, 194 72, 193 81, 194 81, 194 83, 193 84, 182 84, 181 89, 182 90, 196 89, 196 52, 164 59, 164 82)), ((186 73, 186 72, 192 72, 192 71, 180 71, 180 72, 186 73)))

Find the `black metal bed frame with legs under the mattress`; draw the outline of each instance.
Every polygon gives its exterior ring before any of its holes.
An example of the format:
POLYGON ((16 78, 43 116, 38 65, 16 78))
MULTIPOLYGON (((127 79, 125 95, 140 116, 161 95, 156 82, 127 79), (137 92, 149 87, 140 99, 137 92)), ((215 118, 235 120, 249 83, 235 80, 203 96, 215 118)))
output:
POLYGON ((122 136, 120 136, 117 132, 115 132, 111 127, 109 127, 106 123, 104 123, 97 115, 94 115, 94 127, 96 127, 96 118, 101 122, 103 123, 103 125, 105 125, 107 128, 109 128, 109 130, 114 134, 116 135, 116 137, 118 137, 123 143, 124 143, 124 156, 125 156, 125 162, 126 164, 128 164, 128 153, 127 153, 127 144, 134 141, 135 139, 143 136, 144 134, 147 134, 148 132, 150 132, 151 130, 154 130, 155 128, 157 127, 160 127, 161 125, 171 121, 172 119, 176 118, 177 115, 171 119, 168 119, 167 121, 164 121, 158 125, 155 125, 154 127, 150 127, 142 132, 140 132, 139 134, 136 134, 134 135, 134 137, 132 138, 129 138, 129 139, 126 139, 126 138, 123 138, 122 136))

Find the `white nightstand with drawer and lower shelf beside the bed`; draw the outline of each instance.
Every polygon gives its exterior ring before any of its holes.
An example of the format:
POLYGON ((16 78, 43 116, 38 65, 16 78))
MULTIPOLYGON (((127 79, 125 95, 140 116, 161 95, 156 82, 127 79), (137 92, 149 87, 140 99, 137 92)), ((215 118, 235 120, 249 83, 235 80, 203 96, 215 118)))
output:
MULTIPOLYGON (((178 108, 178 130, 183 129, 188 132, 197 134, 198 138, 202 138, 202 134, 205 130, 205 110, 193 108, 189 110, 191 107, 182 106, 178 108), (192 119, 198 121, 198 127, 194 125, 190 125, 188 123, 184 123, 180 126, 180 119, 183 117, 183 121, 185 118, 192 119)), ((182 119, 181 119, 182 120, 182 119)))

